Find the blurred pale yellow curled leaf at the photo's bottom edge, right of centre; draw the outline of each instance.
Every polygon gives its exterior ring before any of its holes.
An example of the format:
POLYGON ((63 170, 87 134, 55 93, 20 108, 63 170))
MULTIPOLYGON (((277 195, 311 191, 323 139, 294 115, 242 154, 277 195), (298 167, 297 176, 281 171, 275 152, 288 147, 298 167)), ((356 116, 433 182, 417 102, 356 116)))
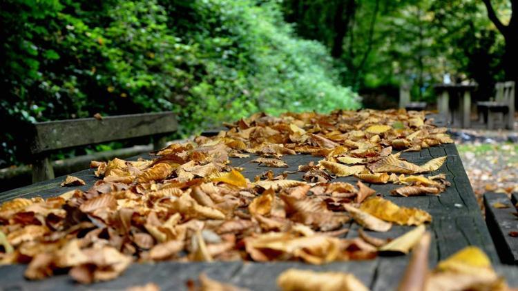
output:
POLYGON ((289 269, 277 278, 282 291, 367 291, 353 274, 289 269))

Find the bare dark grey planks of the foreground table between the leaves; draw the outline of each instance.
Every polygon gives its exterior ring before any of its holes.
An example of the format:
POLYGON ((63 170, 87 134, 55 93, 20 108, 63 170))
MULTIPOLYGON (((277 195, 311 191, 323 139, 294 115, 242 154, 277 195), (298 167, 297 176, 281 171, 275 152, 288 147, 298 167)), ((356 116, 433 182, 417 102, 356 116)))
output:
MULTIPOLYGON (((439 122, 436 122, 436 124, 439 122)), ((468 245, 475 245, 488 257, 495 266, 495 270, 506 277, 511 286, 518 286, 518 267, 502 265, 500 263, 495 244, 490 237, 490 232, 483 220, 479 204, 475 198, 466 172, 461 163, 459 152, 454 144, 440 145, 421 150, 421 152, 403 152, 401 155, 408 161, 424 163, 435 157, 448 156, 447 161, 432 174, 445 173, 452 185, 439 196, 428 195, 420 197, 394 197, 390 190, 397 187, 393 184, 370 185, 371 188, 383 197, 394 203, 407 207, 416 207, 428 211, 432 215, 432 223, 427 225, 432 232, 432 245, 430 248, 430 268, 438 261, 449 257, 454 252, 468 245)), ((140 157, 150 158, 147 155, 140 157)), ((133 159, 137 159, 135 157, 133 159)), ((310 161, 318 162, 321 157, 311 157, 307 154, 287 155, 282 159, 289 168, 267 168, 251 163, 252 157, 244 159, 231 158, 231 165, 242 167, 242 174, 248 179, 273 170, 274 174, 284 171, 296 171, 298 165, 304 165, 310 161)), ((86 181, 86 185, 76 187, 87 190, 97 177, 93 169, 76 172, 73 175, 86 181)), ((288 179, 302 179, 303 173, 289 174, 288 179)), ((44 181, 28 185, 23 188, 10 190, 0 194, 0 202, 16 197, 52 197, 73 188, 62 188, 59 183, 64 177, 58 177, 50 181, 44 181)), ((340 177, 334 181, 356 183, 354 177, 340 177)), ((346 237, 358 237, 359 226, 356 223, 345 225, 349 228, 346 237)), ((394 225, 389 232, 367 232, 373 237, 398 237, 411 227, 394 225)), ((371 290, 394 290, 405 272, 405 267, 410 255, 379 256, 368 261, 345 261, 329 263, 325 265, 309 265, 301 262, 213 262, 213 263, 134 263, 128 270, 113 281, 94 283, 93 285, 79 285, 74 283, 66 274, 50 277, 42 281, 27 281, 23 279, 26 265, 4 265, 0 267, 0 286, 6 290, 68 290, 72 287, 79 290, 105 289, 120 290, 133 285, 145 285, 156 283, 162 290, 185 290, 188 279, 197 279, 200 272, 204 272, 211 279, 233 283, 239 287, 251 290, 276 290, 276 278, 288 268, 304 268, 311 270, 333 270, 339 272, 351 272, 363 281, 371 290)))

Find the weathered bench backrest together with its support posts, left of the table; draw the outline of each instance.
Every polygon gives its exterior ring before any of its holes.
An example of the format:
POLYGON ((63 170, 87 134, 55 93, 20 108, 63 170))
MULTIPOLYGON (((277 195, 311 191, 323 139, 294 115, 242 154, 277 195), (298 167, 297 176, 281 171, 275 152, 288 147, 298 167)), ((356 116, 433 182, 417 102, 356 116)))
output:
POLYGON ((57 150, 135 137, 153 137, 153 148, 165 146, 166 135, 178 128, 173 112, 128 114, 32 123, 28 153, 32 158, 32 183, 54 178, 49 159, 57 150))

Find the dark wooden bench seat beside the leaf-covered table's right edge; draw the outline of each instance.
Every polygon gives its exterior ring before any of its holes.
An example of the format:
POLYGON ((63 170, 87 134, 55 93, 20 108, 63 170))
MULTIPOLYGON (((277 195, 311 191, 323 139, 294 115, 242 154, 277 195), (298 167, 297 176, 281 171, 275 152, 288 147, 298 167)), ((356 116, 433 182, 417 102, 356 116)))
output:
POLYGON ((486 223, 502 263, 518 264, 518 194, 484 194, 486 223))

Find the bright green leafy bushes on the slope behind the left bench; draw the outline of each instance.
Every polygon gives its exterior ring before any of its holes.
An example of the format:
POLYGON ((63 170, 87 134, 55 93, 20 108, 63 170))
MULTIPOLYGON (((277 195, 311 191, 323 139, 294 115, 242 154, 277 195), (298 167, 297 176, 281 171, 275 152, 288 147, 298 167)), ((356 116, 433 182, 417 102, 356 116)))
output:
MULTIPOLYGON (((9 122, 173 110, 191 134, 258 110, 359 106, 325 47, 294 37, 275 1, 4 2, 9 122)), ((15 162, 16 134, 0 135, 0 160, 15 162)))

